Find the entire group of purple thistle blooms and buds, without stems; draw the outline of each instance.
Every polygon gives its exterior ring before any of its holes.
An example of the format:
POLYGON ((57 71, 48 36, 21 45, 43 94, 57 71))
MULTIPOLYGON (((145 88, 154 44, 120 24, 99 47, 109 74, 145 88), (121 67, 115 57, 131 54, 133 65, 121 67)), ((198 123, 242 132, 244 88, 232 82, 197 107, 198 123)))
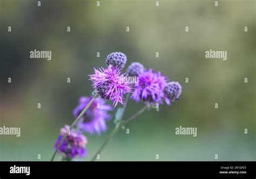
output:
MULTIPOLYGON (((163 100, 167 105, 171 101, 177 101, 181 94, 181 86, 179 82, 168 82, 167 77, 161 75, 160 72, 154 70, 146 70, 144 66, 138 62, 132 63, 126 70, 127 74, 121 74, 120 70, 125 66, 127 58, 122 52, 113 52, 106 58, 107 68, 94 68, 95 74, 89 75, 95 92, 101 97, 95 99, 91 106, 80 118, 80 121, 72 129, 62 145, 59 148, 64 159, 72 159, 76 156, 84 156, 86 154, 86 137, 82 134, 98 134, 105 132, 107 129, 106 121, 112 116, 108 114, 113 107, 106 104, 105 99, 110 99, 113 106, 116 107, 118 102, 124 104, 124 94, 131 93, 132 88, 127 77, 138 78, 138 83, 134 84, 134 91, 131 98, 136 102, 143 101, 146 104, 163 104, 163 100), (128 76, 129 75, 129 76, 128 76)), ((80 113, 93 99, 92 97, 80 97, 78 105, 73 110, 73 115, 78 118, 80 113)), ((55 148, 62 140, 69 126, 65 126, 60 130, 55 148)))

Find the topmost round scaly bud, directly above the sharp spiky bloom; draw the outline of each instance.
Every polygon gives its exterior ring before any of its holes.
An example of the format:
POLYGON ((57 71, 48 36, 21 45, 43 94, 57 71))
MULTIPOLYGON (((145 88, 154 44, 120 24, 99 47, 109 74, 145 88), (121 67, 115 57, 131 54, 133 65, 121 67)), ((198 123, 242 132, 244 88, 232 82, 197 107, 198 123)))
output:
POLYGON ((122 52, 110 53, 106 58, 107 66, 118 67, 120 70, 125 66, 127 57, 122 52))

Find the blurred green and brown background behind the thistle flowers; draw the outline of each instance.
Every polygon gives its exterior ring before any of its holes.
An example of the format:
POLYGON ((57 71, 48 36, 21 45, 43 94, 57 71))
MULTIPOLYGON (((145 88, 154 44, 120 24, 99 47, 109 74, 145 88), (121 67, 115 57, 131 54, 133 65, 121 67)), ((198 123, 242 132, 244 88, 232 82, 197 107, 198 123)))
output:
MULTIPOLYGON (((0 126, 21 127, 21 137, 0 136, 1 161, 49 161, 78 98, 92 92, 88 75, 115 51, 128 65, 139 61, 179 81, 183 93, 130 122, 129 135, 120 130, 101 161, 156 161, 156 154, 159 161, 214 161, 215 154, 218 161, 255 161, 255 1, 216 7, 203 0, 108 0, 97 7, 89 0, 0 0, 0 12, 0 126), (52 60, 30 59, 34 49, 51 50, 52 60), (227 60, 205 59, 210 49, 226 50, 227 60), (179 126, 197 127, 197 137, 175 135, 179 126)), ((124 118, 141 107, 130 100, 124 118)), ((101 136, 86 134, 82 160, 95 154, 113 120, 107 126, 101 136)))

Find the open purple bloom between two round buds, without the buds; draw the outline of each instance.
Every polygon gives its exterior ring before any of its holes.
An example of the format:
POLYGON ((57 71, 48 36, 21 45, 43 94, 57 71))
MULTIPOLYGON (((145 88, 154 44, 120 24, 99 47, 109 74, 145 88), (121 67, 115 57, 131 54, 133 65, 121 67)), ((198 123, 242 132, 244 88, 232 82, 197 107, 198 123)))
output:
POLYGON ((139 82, 134 86, 134 92, 131 96, 136 102, 148 101, 150 103, 162 103, 164 98, 164 87, 167 78, 160 72, 156 73, 152 69, 139 74, 139 82))

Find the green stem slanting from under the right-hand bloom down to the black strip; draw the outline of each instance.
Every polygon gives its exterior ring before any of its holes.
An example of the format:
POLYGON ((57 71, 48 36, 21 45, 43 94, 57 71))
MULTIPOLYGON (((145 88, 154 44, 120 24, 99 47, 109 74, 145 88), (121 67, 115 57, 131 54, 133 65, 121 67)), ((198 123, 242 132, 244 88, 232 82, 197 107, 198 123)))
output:
POLYGON ((104 143, 102 144, 102 146, 99 148, 98 152, 93 156, 91 161, 95 161, 95 159, 97 158, 97 155, 100 154, 100 152, 102 152, 102 150, 104 149, 104 147, 106 146, 107 143, 109 143, 109 141, 112 139, 112 137, 114 136, 114 134, 116 134, 118 132, 118 130, 126 125, 129 121, 131 121, 132 119, 136 118, 139 114, 142 114, 145 110, 146 110, 147 106, 145 105, 142 109, 140 109, 137 113, 133 114, 129 119, 124 120, 123 122, 120 122, 116 125, 116 127, 114 128, 114 130, 112 131, 112 133, 107 137, 107 139, 104 141, 104 143))

